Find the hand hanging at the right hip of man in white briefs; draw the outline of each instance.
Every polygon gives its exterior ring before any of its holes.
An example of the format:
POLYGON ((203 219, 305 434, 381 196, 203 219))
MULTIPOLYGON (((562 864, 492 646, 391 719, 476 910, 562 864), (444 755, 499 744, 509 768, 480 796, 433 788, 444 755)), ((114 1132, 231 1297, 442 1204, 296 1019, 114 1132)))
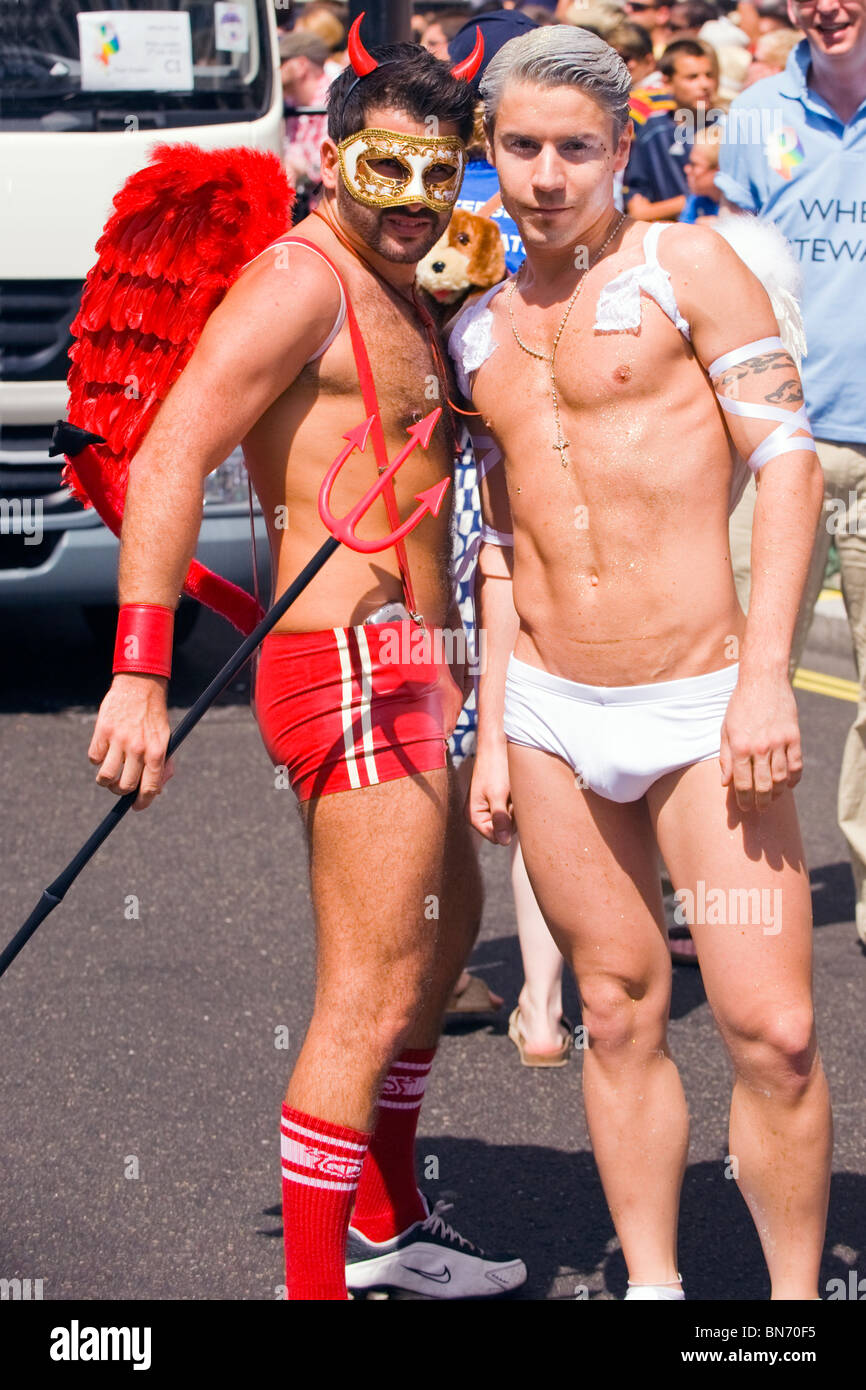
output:
POLYGON ((721 785, 740 810, 766 810, 803 771, 796 702, 784 676, 737 684, 721 726, 721 785))

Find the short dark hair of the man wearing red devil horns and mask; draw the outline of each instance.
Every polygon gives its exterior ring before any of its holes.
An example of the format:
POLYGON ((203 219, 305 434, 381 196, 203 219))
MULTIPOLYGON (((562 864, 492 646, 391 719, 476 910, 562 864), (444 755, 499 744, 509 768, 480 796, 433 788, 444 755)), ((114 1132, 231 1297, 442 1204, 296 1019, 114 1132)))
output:
POLYGON ((367 111, 379 106, 417 121, 428 115, 452 121, 460 139, 470 139, 475 113, 471 82, 453 78, 448 63, 417 43, 379 43, 370 51, 378 68, 357 81, 349 65, 328 89, 328 135, 336 145, 363 131, 367 111))

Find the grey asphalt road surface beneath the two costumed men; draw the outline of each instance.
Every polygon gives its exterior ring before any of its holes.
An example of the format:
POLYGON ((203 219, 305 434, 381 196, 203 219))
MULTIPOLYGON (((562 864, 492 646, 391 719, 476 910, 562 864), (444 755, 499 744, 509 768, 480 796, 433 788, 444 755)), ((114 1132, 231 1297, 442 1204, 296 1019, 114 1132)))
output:
MULTIPOLYGON (((819 634, 803 666, 852 677, 819 634)), ((108 657, 78 613, 0 613, 6 941, 108 805, 86 762, 108 657)), ((231 649, 204 617, 175 666, 188 705, 231 649)), ((855 706, 798 692, 799 791, 815 899, 816 998, 835 1106, 824 1279, 866 1273, 866 956, 835 824, 855 706)), ((418 1155, 431 1197, 492 1250, 523 1255, 530 1300, 623 1298, 626 1272, 589 1151, 577 1056, 518 1065, 505 1036, 521 983, 506 852, 485 845, 473 958, 506 997, 495 1026, 442 1041, 418 1155), (428 1165, 432 1168, 434 1165, 428 1165)), ((178 776, 131 815, 0 983, 0 1277, 58 1300, 272 1300, 282 1282, 279 1102, 303 1037, 313 942, 300 823, 239 682, 178 776), (138 901, 138 905, 136 905, 138 901), (135 913, 138 912, 138 916, 135 913), (288 1049, 275 1045, 288 1030, 288 1049)), ((577 1020, 573 986, 567 1012, 577 1020)), ((671 1041, 692 1115, 681 1212, 691 1298, 762 1300, 758 1238, 724 1176, 730 1068, 696 970, 677 967, 671 1041)))

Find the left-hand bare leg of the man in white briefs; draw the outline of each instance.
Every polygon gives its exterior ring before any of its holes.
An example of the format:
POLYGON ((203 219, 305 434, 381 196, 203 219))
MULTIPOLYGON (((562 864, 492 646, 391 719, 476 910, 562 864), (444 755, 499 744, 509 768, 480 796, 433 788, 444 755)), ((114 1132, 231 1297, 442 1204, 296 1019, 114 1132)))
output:
POLYGON ((562 759, 518 744, 509 771, 530 880, 577 976, 587 1123, 628 1276, 669 1283, 688 1112, 667 1048, 671 966, 646 805, 581 790, 562 759))

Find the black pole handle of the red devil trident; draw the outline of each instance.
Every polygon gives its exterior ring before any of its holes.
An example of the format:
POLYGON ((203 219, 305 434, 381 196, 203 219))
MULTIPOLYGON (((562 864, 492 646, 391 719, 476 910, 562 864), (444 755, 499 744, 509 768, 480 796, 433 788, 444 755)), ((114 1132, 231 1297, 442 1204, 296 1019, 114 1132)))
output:
MULTIPOLYGON (((282 617, 286 609, 291 607, 295 599, 306 589, 307 584, 310 584, 310 581, 316 578, 325 560, 328 560, 334 555, 339 543, 341 542, 336 539, 336 537, 334 535, 328 537, 324 545, 318 548, 310 563, 304 566, 297 578, 293 580, 293 582, 288 587, 285 594, 282 594, 277 599, 272 609, 270 609, 264 614, 261 623, 259 623, 259 627, 253 628, 250 635, 243 639, 238 651, 229 656, 222 670, 217 671, 207 689, 202 691, 195 705, 192 705, 190 709, 186 710, 183 719, 181 720, 181 723, 172 733, 171 738, 168 739, 168 748, 165 752, 167 758, 171 756, 171 753, 174 753, 175 749, 181 746, 186 735, 190 733, 190 730, 196 727, 196 724, 202 719, 202 714, 204 714, 204 712, 210 709, 217 695, 220 695, 221 691, 225 689, 228 682, 235 678, 238 671, 242 670, 243 666, 246 666, 246 663, 249 662, 250 656, 253 655, 259 644, 263 641, 263 638, 267 637, 267 634, 271 631, 275 623, 278 623, 278 620, 282 617)), ((54 881, 50 883, 47 888, 42 890, 42 898, 31 912, 24 926, 18 929, 18 931, 7 945, 3 955, 0 955, 0 976, 6 974, 6 972, 8 970, 10 965, 13 963, 18 952, 26 945, 26 942, 33 935, 36 927, 42 922, 44 922, 47 915, 53 912, 60 902, 63 902, 67 888, 70 888, 70 885, 75 883, 85 865, 89 863, 89 860, 93 858, 99 847, 108 838, 114 827, 121 823, 121 820, 132 806, 136 796, 138 796, 138 787, 135 791, 129 791, 125 794, 125 796, 121 796, 118 801, 115 801, 108 815, 103 817, 103 820, 99 823, 93 834, 85 841, 85 844, 81 847, 78 853, 70 860, 63 873, 58 873, 54 881)))

